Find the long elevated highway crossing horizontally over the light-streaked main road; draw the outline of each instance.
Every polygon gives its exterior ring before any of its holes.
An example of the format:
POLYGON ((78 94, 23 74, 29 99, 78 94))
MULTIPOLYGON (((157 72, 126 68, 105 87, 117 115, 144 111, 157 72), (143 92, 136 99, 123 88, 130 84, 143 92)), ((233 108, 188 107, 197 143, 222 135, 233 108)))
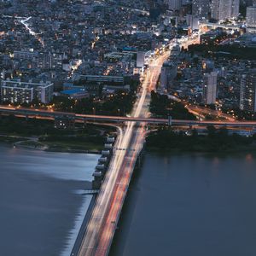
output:
POLYGON ((156 119, 148 117, 122 117, 122 116, 109 116, 109 115, 96 115, 96 114, 79 114, 67 113, 50 110, 41 110, 33 108, 12 108, 0 106, 0 113, 14 114, 17 117, 36 118, 36 119, 55 119, 65 117, 73 119, 75 122, 81 123, 86 121, 103 121, 110 123, 124 123, 135 122, 137 124, 155 124, 155 125, 188 125, 188 126, 224 126, 224 127, 256 127, 256 121, 215 121, 215 120, 183 120, 183 119, 156 119))

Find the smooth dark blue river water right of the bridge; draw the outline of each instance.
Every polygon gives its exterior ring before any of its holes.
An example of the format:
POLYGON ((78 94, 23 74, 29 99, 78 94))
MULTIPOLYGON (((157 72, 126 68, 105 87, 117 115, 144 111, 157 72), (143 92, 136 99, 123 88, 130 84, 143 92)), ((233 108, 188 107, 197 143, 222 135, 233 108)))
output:
POLYGON ((255 256, 256 155, 148 154, 111 256, 255 256))

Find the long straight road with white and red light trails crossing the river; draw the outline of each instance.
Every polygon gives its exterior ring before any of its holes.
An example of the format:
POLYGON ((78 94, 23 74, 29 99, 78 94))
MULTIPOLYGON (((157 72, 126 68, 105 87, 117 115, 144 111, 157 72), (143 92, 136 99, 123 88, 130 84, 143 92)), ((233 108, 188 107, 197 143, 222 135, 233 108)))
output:
MULTIPOLYGON (((148 118, 150 90, 155 88, 160 68, 168 55, 169 53, 166 52, 151 62, 131 117, 148 118)), ((87 224, 79 256, 108 254, 137 156, 143 148, 144 126, 144 123, 137 124, 132 121, 126 122, 124 131, 119 128, 113 158, 87 224), (125 150, 119 150, 119 148, 125 148, 125 150)))

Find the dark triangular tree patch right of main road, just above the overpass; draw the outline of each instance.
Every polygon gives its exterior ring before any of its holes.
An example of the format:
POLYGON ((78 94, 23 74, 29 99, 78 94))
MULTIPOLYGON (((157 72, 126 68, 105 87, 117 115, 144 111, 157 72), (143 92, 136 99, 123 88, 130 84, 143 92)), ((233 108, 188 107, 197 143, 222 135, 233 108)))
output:
POLYGON ((171 115, 172 119, 196 119, 193 113, 189 113, 188 109, 184 108, 183 103, 175 102, 168 96, 160 95, 154 90, 151 91, 150 112, 154 117, 166 118, 171 115))

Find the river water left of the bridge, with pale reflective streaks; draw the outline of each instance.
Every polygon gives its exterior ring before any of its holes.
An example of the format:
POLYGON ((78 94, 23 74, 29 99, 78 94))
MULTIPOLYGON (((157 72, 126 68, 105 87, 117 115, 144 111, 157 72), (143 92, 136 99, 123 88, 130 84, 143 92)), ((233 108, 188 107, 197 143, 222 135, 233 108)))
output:
POLYGON ((0 255, 68 255, 97 159, 0 145, 0 255))

